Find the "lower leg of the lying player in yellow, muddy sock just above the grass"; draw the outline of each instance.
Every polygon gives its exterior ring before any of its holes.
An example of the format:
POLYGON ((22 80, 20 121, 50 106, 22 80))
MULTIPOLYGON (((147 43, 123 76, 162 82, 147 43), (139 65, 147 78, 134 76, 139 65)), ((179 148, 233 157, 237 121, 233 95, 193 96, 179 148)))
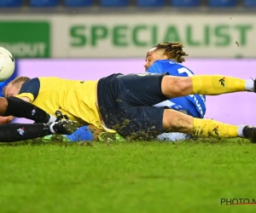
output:
POLYGON ((193 118, 182 112, 166 109, 163 129, 168 132, 183 132, 200 137, 234 138, 244 137, 256 142, 256 127, 230 125, 212 119, 193 118))

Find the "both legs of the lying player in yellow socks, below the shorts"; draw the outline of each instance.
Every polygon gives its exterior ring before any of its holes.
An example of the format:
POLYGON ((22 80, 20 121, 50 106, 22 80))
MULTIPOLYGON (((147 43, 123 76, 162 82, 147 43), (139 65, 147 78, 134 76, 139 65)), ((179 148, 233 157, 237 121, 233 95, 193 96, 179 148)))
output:
MULTIPOLYGON (((256 83, 253 79, 243 80, 220 75, 199 75, 188 78, 165 76, 162 79, 161 89, 163 95, 174 98, 189 94, 221 95, 241 91, 255 92, 256 83)), ((164 112, 163 129, 198 136, 245 137, 256 142, 256 127, 236 126, 212 119, 192 118, 170 110, 164 112)))

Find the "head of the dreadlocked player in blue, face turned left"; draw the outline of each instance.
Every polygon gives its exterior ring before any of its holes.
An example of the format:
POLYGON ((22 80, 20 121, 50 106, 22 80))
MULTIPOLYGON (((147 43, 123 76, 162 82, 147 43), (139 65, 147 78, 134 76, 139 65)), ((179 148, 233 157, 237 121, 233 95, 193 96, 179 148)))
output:
POLYGON ((183 56, 187 55, 183 51, 183 47, 182 43, 158 43, 152 49, 149 49, 146 55, 146 63, 144 64, 146 71, 155 60, 170 59, 182 63, 185 61, 183 56))

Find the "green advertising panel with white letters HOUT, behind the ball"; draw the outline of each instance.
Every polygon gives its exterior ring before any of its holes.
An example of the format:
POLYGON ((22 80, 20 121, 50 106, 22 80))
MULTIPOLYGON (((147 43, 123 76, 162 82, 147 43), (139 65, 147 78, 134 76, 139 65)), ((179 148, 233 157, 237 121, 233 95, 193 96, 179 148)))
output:
POLYGON ((0 20, 0 46, 15 58, 49 58, 50 25, 48 21, 0 20))

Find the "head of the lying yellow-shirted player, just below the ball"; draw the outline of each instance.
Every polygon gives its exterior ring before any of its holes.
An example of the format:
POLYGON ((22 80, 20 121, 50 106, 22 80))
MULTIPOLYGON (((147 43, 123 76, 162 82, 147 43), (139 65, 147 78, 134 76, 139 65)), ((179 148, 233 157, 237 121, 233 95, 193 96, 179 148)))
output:
POLYGON ((23 76, 15 78, 3 88, 3 96, 10 97, 10 96, 18 95, 21 85, 29 80, 30 78, 23 77, 23 76))

